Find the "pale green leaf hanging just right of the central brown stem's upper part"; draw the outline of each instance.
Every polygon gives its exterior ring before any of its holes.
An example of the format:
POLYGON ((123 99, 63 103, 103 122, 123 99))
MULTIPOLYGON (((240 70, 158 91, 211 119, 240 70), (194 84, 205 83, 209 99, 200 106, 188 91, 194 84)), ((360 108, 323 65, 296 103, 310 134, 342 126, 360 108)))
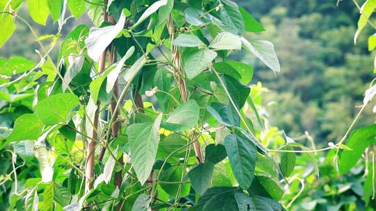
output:
POLYGON ((209 49, 198 49, 183 53, 183 62, 187 78, 193 79, 212 64, 212 60, 217 57, 215 51, 209 49))

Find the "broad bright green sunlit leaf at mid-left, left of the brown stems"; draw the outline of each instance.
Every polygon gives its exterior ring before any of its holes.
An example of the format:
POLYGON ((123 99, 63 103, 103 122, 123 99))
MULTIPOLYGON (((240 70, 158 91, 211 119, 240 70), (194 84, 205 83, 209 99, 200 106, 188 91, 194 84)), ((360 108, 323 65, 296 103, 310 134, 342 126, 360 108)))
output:
POLYGON ((34 110, 38 118, 47 126, 66 124, 72 115, 72 109, 79 105, 75 94, 61 93, 40 101, 34 110))

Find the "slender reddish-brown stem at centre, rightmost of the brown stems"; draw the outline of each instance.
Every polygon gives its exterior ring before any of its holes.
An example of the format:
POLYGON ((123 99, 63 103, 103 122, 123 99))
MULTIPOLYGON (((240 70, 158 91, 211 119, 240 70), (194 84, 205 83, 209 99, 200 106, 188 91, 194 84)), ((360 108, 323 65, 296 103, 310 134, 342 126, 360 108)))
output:
MULTIPOLYGON (((167 20, 167 29, 169 30, 170 40, 172 42, 172 40, 175 38, 175 29, 173 27, 173 19, 171 16, 167 20)), ((180 75, 182 71, 180 67, 180 53, 179 53, 178 47, 171 45, 171 53, 173 55, 173 64, 175 65, 175 68, 178 69, 178 72, 175 72, 175 76, 178 77, 180 96, 182 96, 182 101, 185 102, 187 101, 187 90, 186 90, 185 80, 180 75)), ((194 142, 194 153, 196 153, 196 158, 198 162, 202 163, 203 155, 201 154, 200 143, 197 140, 196 142, 194 142)))

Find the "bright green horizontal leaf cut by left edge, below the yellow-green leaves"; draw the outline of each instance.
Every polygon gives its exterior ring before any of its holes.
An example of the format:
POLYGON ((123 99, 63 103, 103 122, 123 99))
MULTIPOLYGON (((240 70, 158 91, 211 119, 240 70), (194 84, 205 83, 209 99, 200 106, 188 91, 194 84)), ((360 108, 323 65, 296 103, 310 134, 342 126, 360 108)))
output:
POLYGON ((25 71, 33 68, 35 65, 36 62, 33 62, 21 56, 13 56, 12 58, 0 58, 0 74, 3 76, 22 74, 25 71))

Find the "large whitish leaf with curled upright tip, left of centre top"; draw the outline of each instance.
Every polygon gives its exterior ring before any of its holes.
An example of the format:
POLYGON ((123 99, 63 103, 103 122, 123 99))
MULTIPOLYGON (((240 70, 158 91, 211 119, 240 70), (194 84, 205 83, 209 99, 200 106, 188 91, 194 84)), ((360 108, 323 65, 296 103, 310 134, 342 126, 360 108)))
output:
POLYGON ((123 30, 125 24, 125 15, 122 12, 120 19, 115 26, 106 26, 103 28, 91 28, 88 37, 85 40, 88 48, 88 55, 94 61, 98 61, 103 51, 109 46, 113 39, 123 30))

